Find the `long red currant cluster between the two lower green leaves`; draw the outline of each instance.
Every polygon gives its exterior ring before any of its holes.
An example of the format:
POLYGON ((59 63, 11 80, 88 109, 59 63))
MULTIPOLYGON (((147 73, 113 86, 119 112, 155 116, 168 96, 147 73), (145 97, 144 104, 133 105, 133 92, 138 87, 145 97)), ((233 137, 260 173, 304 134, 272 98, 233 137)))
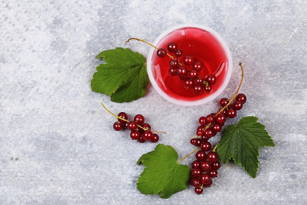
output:
MULTIPOLYGON (((191 139, 191 144, 200 147, 195 157, 196 160, 192 163, 192 176, 190 184, 195 186, 197 194, 203 193, 203 187, 209 187, 212 184, 212 177, 217 177, 217 170, 220 168, 218 155, 211 150, 211 144, 208 140, 214 137, 221 131, 227 117, 233 118, 236 116, 236 111, 241 110, 246 102, 245 94, 238 94, 231 104, 227 98, 220 100, 222 108, 217 114, 210 114, 206 117, 200 117, 200 126, 197 128, 197 137, 191 139)), ((232 99, 231 99, 232 101, 232 99)))

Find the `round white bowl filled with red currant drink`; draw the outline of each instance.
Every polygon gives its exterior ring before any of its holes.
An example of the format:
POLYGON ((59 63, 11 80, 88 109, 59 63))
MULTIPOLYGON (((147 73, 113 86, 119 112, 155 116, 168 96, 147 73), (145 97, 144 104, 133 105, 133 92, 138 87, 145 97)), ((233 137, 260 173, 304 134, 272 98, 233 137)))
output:
POLYGON ((152 48, 147 59, 148 75, 153 87, 170 102, 183 106, 200 105, 213 100, 226 88, 232 59, 227 44, 214 30, 195 24, 179 25, 163 32, 154 45, 164 48, 171 57, 161 58, 157 49, 152 48), (170 43, 173 47, 168 50, 170 43), (181 51, 182 56, 177 55, 175 49, 181 51), (173 66, 170 61, 174 60, 178 65, 170 68, 173 66), (182 71, 180 66, 186 70, 182 71), (210 77, 212 74, 214 82, 210 77), (202 79, 201 83, 198 79, 202 79))

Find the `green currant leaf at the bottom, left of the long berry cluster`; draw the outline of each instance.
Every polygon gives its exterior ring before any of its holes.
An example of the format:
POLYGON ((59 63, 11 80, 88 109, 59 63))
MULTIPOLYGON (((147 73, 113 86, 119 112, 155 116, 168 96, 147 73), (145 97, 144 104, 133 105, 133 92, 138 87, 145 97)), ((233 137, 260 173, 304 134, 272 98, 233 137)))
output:
POLYGON ((143 154, 137 161, 146 168, 137 181, 137 189, 143 194, 159 194, 167 199, 186 188, 190 168, 177 163, 178 154, 172 146, 159 144, 154 151, 143 154))

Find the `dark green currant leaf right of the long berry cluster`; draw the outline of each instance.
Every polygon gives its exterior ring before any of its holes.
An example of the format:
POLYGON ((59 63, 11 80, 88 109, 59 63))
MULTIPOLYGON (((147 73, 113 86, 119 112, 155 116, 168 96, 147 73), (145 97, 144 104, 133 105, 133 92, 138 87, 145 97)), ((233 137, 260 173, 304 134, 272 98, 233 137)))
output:
POLYGON ((259 147, 275 146, 265 126, 257 120, 253 116, 243 117, 237 126, 227 126, 217 144, 217 152, 224 164, 232 158, 253 178, 258 169, 259 147))

